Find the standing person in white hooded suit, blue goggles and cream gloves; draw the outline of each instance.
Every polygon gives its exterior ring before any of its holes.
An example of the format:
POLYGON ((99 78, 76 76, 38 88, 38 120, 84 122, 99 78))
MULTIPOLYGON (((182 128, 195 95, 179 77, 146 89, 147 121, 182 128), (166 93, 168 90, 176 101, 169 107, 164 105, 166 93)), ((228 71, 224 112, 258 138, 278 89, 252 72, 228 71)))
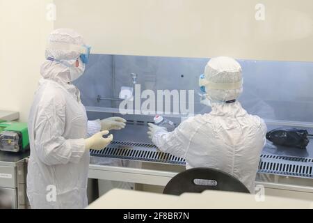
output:
POLYGON ((89 52, 90 47, 73 30, 56 29, 49 36, 42 79, 29 115, 31 208, 85 208, 89 149, 106 147, 113 135, 104 135, 125 128, 126 121, 120 117, 87 120, 72 82, 83 75, 89 52))

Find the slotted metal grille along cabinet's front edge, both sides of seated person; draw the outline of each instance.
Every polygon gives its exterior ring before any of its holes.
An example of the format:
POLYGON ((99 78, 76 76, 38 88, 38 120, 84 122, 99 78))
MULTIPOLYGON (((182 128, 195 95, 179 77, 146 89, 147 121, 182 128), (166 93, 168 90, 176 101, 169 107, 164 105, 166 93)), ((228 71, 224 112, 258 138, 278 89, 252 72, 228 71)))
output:
MULTIPOLYGON (((183 158, 157 151, 157 146, 154 146, 154 144, 141 144, 130 141, 113 141, 101 151, 90 150, 90 155, 123 160, 186 164, 183 158)), ((260 158, 259 173, 313 178, 313 159, 311 158, 270 154, 262 154, 260 158)))

